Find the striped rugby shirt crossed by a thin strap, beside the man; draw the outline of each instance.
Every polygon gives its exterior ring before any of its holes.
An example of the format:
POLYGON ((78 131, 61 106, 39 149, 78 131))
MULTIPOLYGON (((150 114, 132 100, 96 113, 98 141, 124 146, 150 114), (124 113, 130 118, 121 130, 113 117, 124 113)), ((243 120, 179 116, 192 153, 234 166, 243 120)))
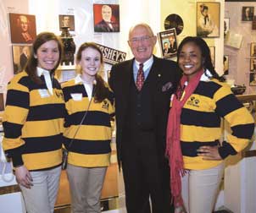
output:
POLYGON ((114 116, 113 92, 109 89, 109 96, 102 102, 95 102, 92 97, 86 118, 79 128, 90 102, 80 75, 62 87, 68 112, 64 125, 64 144, 70 150, 68 162, 77 167, 109 166, 112 138, 110 118, 114 116), (79 131, 75 135, 77 128, 79 131), (75 139, 70 145, 74 135, 75 139))

